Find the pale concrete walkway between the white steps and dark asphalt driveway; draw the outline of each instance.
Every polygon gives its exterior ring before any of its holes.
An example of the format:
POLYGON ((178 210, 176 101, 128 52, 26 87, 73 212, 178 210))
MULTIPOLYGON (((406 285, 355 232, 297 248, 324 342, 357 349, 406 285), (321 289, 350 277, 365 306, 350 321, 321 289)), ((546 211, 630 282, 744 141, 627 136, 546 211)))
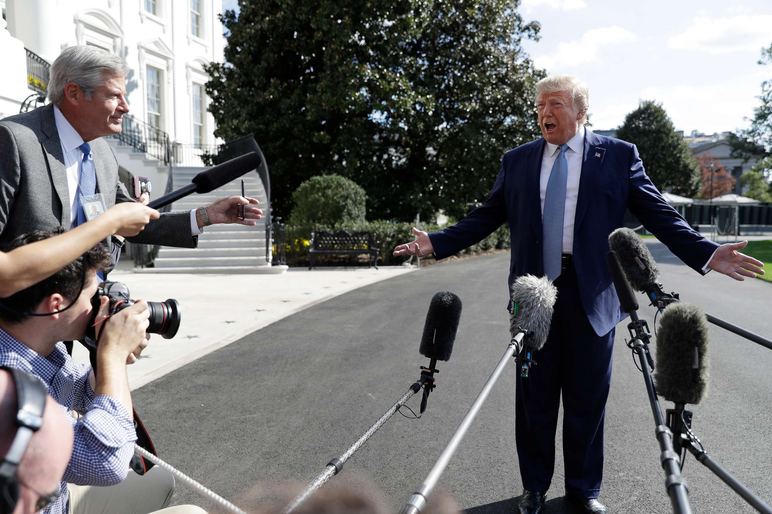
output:
MULTIPOLYGON (((286 274, 137 274, 117 269, 110 280, 124 282, 134 299, 180 302, 176 337, 151 336, 140 360, 129 366, 132 390, 181 368, 283 317, 348 291, 409 273, 415 268, 381 266, 290 268, 286 274)), ((74 356, 88 362, 76 344, 74 356)))

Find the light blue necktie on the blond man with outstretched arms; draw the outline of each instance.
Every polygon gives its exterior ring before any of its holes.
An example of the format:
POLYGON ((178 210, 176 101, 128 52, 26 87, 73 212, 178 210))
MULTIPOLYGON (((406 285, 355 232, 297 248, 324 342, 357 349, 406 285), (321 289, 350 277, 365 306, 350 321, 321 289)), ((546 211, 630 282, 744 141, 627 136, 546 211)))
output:
POLYGON ((568 145, 560 145, 547 181, 542 217, 544 274, 550 281, 560 277, 560 259, 563 254, 563 221, 566 211, 566 184, 568 182, 568 145))

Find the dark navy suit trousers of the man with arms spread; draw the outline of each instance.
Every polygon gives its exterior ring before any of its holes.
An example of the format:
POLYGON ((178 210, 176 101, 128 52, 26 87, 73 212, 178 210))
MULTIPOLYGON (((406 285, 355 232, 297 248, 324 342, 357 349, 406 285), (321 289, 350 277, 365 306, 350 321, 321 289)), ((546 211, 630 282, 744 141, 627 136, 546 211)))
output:
POLYGON ((554 282, 557 301, 537 366, 518 377, 515 433, 523 488, 550 488, 555 432, 563 396, 566 493, 598 498, 603 478, 603 423, 611 386, 614 329, 598 336, 584 314, 576 271, 567 267, 554 282))

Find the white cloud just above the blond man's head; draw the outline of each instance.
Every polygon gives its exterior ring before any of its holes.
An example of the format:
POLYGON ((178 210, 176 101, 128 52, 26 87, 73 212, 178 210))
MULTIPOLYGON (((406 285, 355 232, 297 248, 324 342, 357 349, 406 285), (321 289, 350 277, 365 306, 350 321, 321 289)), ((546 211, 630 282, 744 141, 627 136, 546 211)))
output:
POLYGON ((616 45, 636 41, 638 37, 627 29, 617 25, 590 29, 580 39, 559 43, 552 55, 540 55, 533 58, 537 67, 553 71, 558 68, 579 66, 598 59, 598 49, 604 45, 616 45))

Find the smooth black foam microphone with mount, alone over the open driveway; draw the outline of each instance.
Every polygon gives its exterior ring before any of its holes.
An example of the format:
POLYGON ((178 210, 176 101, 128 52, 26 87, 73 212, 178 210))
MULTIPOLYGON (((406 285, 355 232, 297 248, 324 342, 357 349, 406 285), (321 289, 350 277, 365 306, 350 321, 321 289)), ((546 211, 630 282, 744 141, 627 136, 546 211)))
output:
POLYGON ((426 312, 424 333, 418 351, 431 359, 429 367, 421 366, 421 380, 424 385, 424 396, 421 399, 421 412, 426 410, 429 393, 435 388, 434 374, 439 373, 435 366, 437 361, 448 361, 453 351, 455 332, 459 329, 461 320, 461 298, 449 291, 440 291, 429 302, 426 312))

